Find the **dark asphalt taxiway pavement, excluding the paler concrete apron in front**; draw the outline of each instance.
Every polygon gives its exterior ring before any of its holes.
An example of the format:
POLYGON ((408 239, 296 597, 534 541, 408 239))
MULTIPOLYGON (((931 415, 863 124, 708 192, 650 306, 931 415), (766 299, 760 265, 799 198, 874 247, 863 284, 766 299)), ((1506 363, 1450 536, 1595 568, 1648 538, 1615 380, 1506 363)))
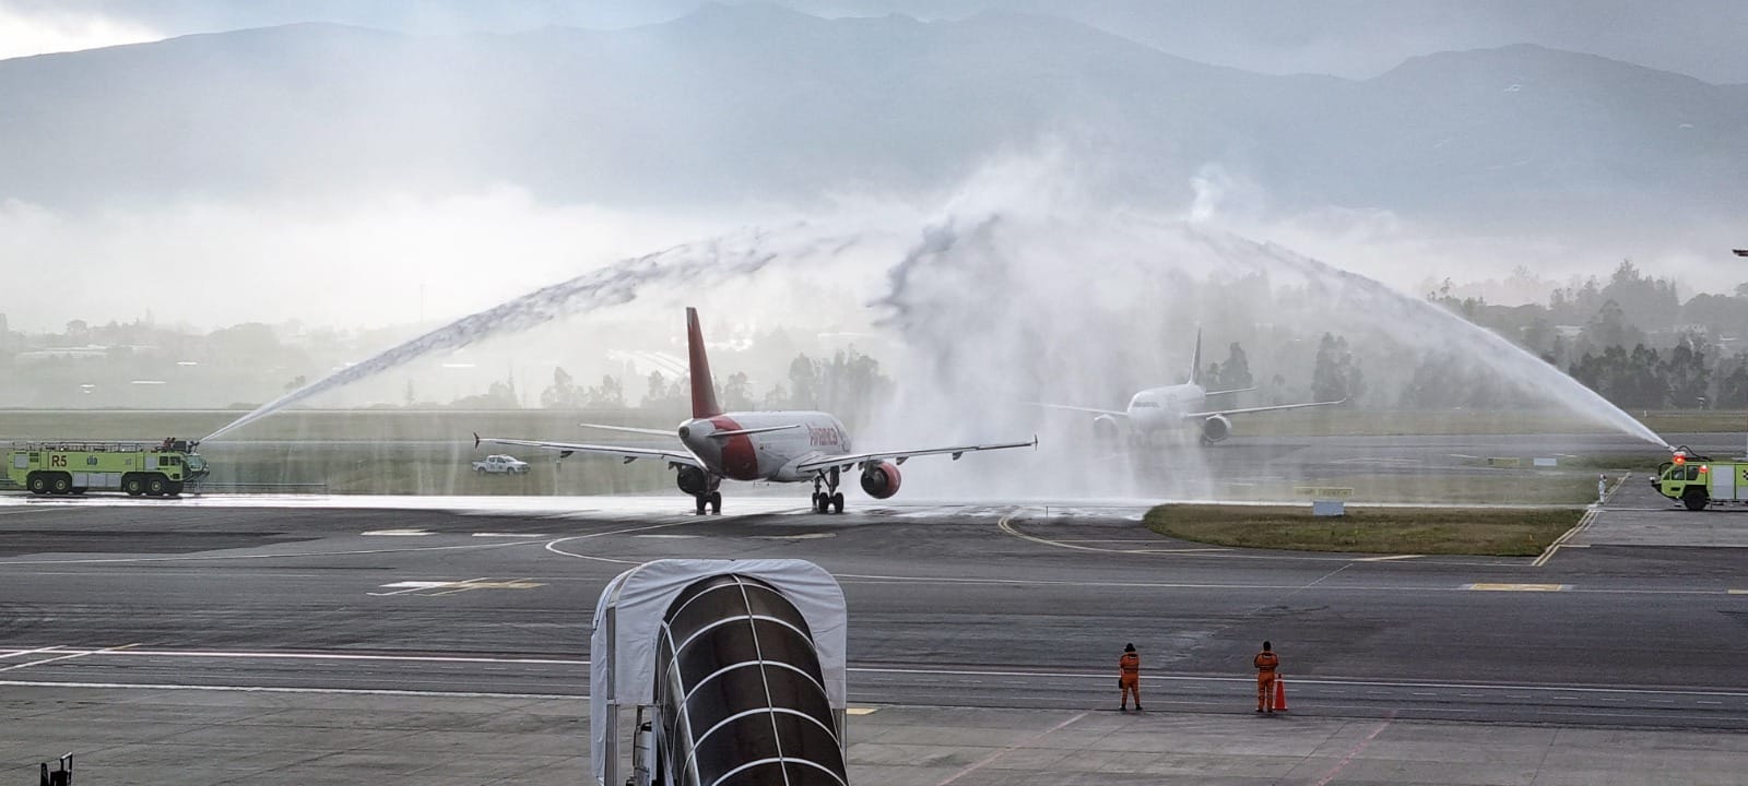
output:
POLYGON ((0 498, 0 685, 579 697, 619 571, 801 557, 844 585, 853 702, 1112 709, 1133 641, 1150 709, 1245 713, 1273 639, 1297 714, 1748 728, 1734 548, 1587 543, 1538 566, 1210 550, 1086 503, 685 507, 0 498))

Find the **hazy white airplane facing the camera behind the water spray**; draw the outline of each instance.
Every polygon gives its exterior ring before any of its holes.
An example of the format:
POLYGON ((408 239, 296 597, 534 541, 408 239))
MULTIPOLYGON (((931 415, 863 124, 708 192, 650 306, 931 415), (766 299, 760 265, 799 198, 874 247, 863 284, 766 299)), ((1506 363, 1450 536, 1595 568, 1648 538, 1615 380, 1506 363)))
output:
POLYGON ((1190 355, 1190 379, 1185 384, 1168 384, 1164 388, 1147 388, 1129 398, 1129 405, 1122 410, 1115 409, 1094 409, 1094 407, 1070 407, 1066 403, 1038 403, 1037 407, 1045 409, 1065 409, 1070 412, 1086 412, 1092 417, 1092 433, 1099 438, 1117 438, 1120 431, 1127 431, 1131 438, 1145 438, 1157 431, 1182 430, 1190 424, 1201 426, 1201 444, 1211 445, 1232 435, 1232 421, 1227 416, 1250 414, 1250 412, 1278 412, 1283 409, 1306 409, 1306 407, 1328 407, 1332 403, 1346 402, 1306 402, 1306 403, 1281 403, 1274 407, 1238 407, 1238 409, 1208 409, 1208 396, 1218 396, 1225 393, 1245 393, 1257 388, 1234 388, 1234 390, 1217 390, 1208 391, 1201 386, 1201 330, 1196 332, 1196 353, 1190 355))

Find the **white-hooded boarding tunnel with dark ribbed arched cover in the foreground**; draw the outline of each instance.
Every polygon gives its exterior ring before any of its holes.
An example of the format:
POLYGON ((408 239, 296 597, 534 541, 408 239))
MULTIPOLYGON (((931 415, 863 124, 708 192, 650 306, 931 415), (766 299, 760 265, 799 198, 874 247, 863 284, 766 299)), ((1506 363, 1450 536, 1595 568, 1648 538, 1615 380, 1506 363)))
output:
POLYGON ((594 783, 846 786, 844 650, 843 590, 813 562, 662 559, 621 573, 591 638, 594 783))

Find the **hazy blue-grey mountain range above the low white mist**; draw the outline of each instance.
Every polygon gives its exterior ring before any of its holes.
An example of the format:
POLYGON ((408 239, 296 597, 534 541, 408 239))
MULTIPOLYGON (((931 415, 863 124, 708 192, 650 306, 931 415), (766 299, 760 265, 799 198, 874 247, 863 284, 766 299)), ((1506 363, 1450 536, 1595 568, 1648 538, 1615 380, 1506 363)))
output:
POLYGON ((337 197, 516 183, 554 201, 806 203, 1065 150, 1134 199, 1217 164, 1274 206, 1724 217, 1748 86, 1514 45, 1370 80, 1210 66, 1059 19, 704 7, 622 31, 334 24, 0 61, 0 199, 337 197))

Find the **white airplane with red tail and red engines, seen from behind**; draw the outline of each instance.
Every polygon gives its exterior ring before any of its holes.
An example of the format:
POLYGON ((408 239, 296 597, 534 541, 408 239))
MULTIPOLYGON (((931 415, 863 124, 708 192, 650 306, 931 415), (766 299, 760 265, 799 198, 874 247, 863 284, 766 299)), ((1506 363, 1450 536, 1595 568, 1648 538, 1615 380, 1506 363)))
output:
POLYGON ((631 463, 636 459, 666 461, 676 470, 680 491, 692 494, 697 514, 722 512, 722 480, 813 482, 813 508, 820 514, 844 512, 844 494, 837 491, 843 473, 862 472, 862 491, 876 500, 898 493, 898 465, 916 456, 951 454, 954 461, 967 452, 1003 451, 1010 447, 1037 447, 1038 440, 1003 442, 995 445, 949 445, 921 451, 855 452, 850 431, 827 412, 724 412, 717 405, 717 386, 710 376, 710 358, 704 356, 704 337, 697 327, 697 309, 685 309, 687 351, 692 374, 692 419, 680 423, 676 431, 657 428, 598 426, 610 431, 652 433, 678 437, 680 445, 619 447, 573 442, 505 440, 474 435, 496 445, 544 447, 561 458, 575 452, 615 456, 631 463))

